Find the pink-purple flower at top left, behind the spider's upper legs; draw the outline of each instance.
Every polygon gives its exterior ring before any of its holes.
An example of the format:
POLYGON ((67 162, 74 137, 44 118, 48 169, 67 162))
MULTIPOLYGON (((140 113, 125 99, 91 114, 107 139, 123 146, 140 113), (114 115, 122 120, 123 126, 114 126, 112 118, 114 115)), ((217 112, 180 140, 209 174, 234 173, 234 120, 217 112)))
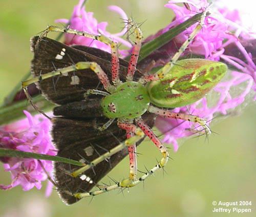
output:
MULTIPOLYGON (((74 7, 73 14, 69 19, 57 19, 56 22, 62 22, 65 24, 69 24, 70 29, 84 31, 88 33, 92 33, 95 35, 102 34, 104 36, 112 38, 116 42, 120 42, 123 45, 131 48, 132 44, 121 38, 126 32, 127 27, 124 27, 123 30, 116 34, 111 34, 106 31, 106 27, 108 26, 108 22, 99 22, 93 17, 93 12, 86 12, 85 6, 82 7, 83 0, 80 0, 78 5, 74 7)), ((117 12, 123 20, 128 20, 124 11, 117 6, 109 6, 111 11, 117 12)), ((73 34, 65 34, 65 43, 67 45, 84 45, 84 46, 92 46, 103 51, 111 52, 110 46, 104 44, 100 41, 93 40, 91 38, 86 38, 84 36, 74 36, 73 34)), ((127 51, 120 51, 121 55, 127 55, 127 51)))

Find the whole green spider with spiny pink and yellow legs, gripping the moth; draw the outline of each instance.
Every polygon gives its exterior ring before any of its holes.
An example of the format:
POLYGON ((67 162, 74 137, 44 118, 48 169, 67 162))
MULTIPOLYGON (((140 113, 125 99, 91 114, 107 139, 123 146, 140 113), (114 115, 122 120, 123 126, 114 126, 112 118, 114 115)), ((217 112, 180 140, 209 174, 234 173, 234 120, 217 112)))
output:
MULTIPOLYGON (((182 120, 188 120, 199 124, 206 135, 210 134, 210 129, 206 125, 206 121, 198 116, 173 113, 163 108, 175 108, 184 105, 191 104, 201 99, 206 92, 214 87, 224 76, 227 67, 220 62, 214 62, 204 59, 186 59, 178 61, 181 54, 185 51, 188 44, 196 37, 197 33, 202 29, 202 24, 206 16, 206 11, 202 13, 201 20, 196 26, 194 31, 190 34, 188 39, 182 44, 179 51, 174 55, 165 66, 158 70, 153 75, 144 75, 137 82, 133 81, 138 55, 141 47, 142 32, 136 26, 133 25, 134 33, 136 35, 135 45, 133 47, 131 59, 126 76, 126 82, 122 83, 119 80, 119 59, 118 59, 118 45, 112 39, 103 35, 93 35, 86 32, 80 32, 72 29, 58 28, 50 26, 42 34, 45 35, 48 32, 65 32, 74 35, 85 36, 95 40, 104 42, 111 46, 112 52, 112 82, 110 83, 108 77, 101 69, 100 65, 96 62, 77 62, 74 65, 70 65, 65 68, 60 68, 50 73, 34 77, 28 81, 23 82, 23 89, 33 105, 32 99, 27 91, 27 86, 34 82, 51 78, 54 76, 67 76, 74 70, 81 70, 90 68, 98 76, 99 80, 104 86, 107 92, 100 90, 89 89, 85 94, 86 99, 89 94, 101 94, 104 98, 101 101, 101 106, 105 117, 110 120, 99 127, 99 130, 105 130, 108 128, 115 118, 118 119, 118 126, 121 129, 126 130, 127 139, 121 142, 118 146, 111 149, 109 152, 99 156, 91 163, 82 166, 77 171, 74 171, 70 175, 73 177, 80 176, 83 179, 83 172, 89 170, 93 166, 97 165, 104 159, 114 155, 124 148, 128 148, 130 157, 130 175, 129 178, 124 179, 114 185, 104 187, 100 190, 92 192, 78 192, 73 196, 80 199, 83 197, 90 197, 102 194, 106 191, 110 191, 116 188, 133 187, 138 183, 144 181, 147 177, 166 165, 169 157, 168 150, 154 134, 152 129, 148 127, 142 120, 141 115, 143 113, 151 112, 157 115, 161 115, 166 118, 178 118, 182 120), (155 107, 153 105, 158 107, 155 107), (134 124, 136 123, 136 126, 134 124), (154 166, 151 170, 145 173, 140 178, 137 177, 137 160, 136 160, 136 142, 144 138, 144 136, 150 137, 155 143, 156 147, 162 154, 160 162, 154 166)), ((62 55, 65 55, 65 51, 62 51, 57 55, 56 59, 61 59, 62 55)), ((79 79, 75 76, 72 77, 73 84, 77 84, 79 79)), ((33 105, 35 108, 36 106, 33 105)), ((38 108, 36 108, 38 110, 38 108)), ((41 111, 40 111, 41 112, 41 111)), ((43 112, 41 112, 43 113, 43 112)), ((70 193, 71 194, 71 193, 70 193)))

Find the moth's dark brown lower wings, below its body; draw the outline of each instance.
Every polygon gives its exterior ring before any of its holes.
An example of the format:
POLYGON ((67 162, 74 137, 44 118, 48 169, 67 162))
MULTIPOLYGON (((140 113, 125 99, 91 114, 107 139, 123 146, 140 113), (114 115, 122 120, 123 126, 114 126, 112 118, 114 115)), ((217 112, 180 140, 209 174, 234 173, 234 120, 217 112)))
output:
MULTIPOLYGON (((99 118, 97 120, 98 124, 103 124, 103 122, 99 122, 99 118)), ((99 132, 93 127, 93 121, 93 119, 78 120, 55 117, 52 134, 53 142, 59 149, 58 156, 89 163, 125 139, 125 132, 120 131, 116 124, 104 132, 99 132)), ((73 194, 89 192, 126 155, 127 149, 124 149, 84 172, 82 175, 90 177, 92 183, 81 180, 80 176, 74 178, 69 175, 78 170, 79 166, 55 162, 54 177, 62 201, 66 204, 76 203, 79 199, 75 198, 73 194), (67 194, 67 192, 71 194, 67 194)))

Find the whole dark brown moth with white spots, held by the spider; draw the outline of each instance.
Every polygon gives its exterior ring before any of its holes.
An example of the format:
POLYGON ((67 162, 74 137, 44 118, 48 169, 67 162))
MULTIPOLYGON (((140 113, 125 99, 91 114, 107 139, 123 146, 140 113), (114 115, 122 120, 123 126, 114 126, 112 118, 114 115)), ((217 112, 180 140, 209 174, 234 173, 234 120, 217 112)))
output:
MULTIPOLYGON (((46 37, 33 37, 31 50, 34 53, 31 70, 34 76, 49 73, 58 68, 64 68, 79 61, 95 61, 111 77, 111 54, 87 46, 67 46, 46 37), (66 55, 56 59, 62 49, 66 55)), ((128 63, 120 61, 120 80, 126 77, 128 63)), ((142 76, 136 70, 135 78, 142 76)), ((105 131, 99 131, 97 126, 106 123, 103 117, 100 99, 101 96, 92 95, 84 101, 83 94, 88 89, 103 89, 98 77, 91 69, 74 71, 68 76, 56 76, 38 82, 37 87, 42 94, 58 106, 54 108, 55 117, 52 118, 52 136, 58 151, 58 156, 83 162, 91 162, 98 156, 114 148, 126 138, 125 130, 112 124, 105 131), (77 75, 79 84, 72 85, 71 77, 77 75)), ((145 113, 145 123, 154 125, 155 115, 145 113)), ((73 204, 78 201, 73 196, 76 192, 89 192, 114 166, 126 155, 127 150, 122 150, 86 171, 84 174, 92 179, 92 183, 84 182, 79 177, 74 178, 69 174, 78 169, 78 166, 55 162, 54 173, 57 191, 63 202, 73 204), (70 194, 71 193, 71 194, 70 194)), ((128 162, 127 162, 128 163, 128 162)))

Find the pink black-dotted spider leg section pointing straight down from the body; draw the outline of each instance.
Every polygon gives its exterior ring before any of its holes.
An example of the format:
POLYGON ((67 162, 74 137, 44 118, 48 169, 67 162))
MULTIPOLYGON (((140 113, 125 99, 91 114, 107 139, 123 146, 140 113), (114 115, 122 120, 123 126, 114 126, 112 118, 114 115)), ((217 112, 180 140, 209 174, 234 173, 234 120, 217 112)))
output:
MULTIPOLYGON (((130 123, 124 123, 118 120, 118 127, 126 130, 127 139, 134 136, 136 126, 130 123)), ((136 144, 128 147, 129 159, 130 159, 130 175, 129 180, 133 181, 137 176, 137 157, 136 157, 136 144)))

